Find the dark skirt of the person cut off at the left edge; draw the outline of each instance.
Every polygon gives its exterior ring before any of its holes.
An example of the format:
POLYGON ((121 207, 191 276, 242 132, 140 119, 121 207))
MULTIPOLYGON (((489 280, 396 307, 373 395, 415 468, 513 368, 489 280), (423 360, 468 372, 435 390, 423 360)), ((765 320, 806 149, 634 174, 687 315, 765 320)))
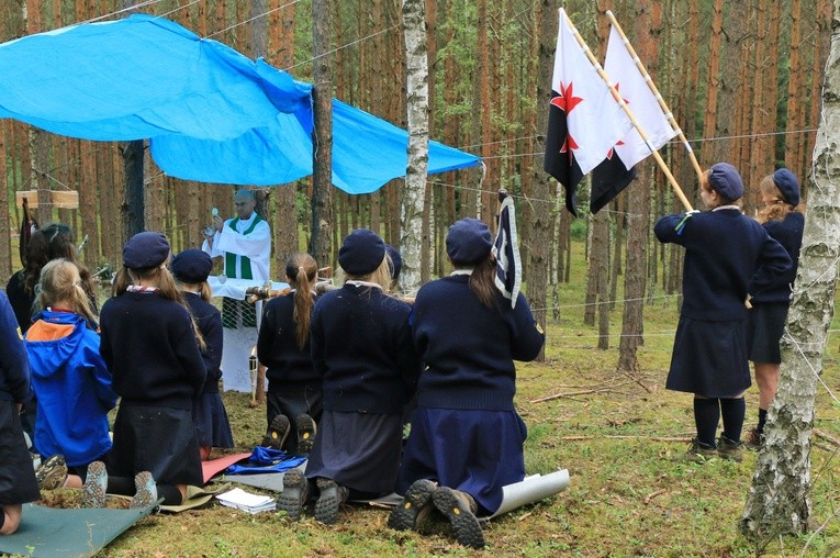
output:
POLYGON ((12 401, 0 401, 0 505, 40 499, 32 456, 23 438, 18 405, 12 401))

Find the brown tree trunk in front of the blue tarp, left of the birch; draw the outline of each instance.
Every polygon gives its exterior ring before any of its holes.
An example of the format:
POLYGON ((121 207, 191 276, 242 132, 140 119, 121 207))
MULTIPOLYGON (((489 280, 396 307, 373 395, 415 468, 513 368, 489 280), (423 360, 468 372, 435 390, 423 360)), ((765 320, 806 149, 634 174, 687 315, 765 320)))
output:
POLYGON ((333 230, 333 82, 329 69, 331 8, 328 0, 312 1, 313 77, 315 108, 312 164, 312 236, 310 254, 320 266, 332 266, 333 230))

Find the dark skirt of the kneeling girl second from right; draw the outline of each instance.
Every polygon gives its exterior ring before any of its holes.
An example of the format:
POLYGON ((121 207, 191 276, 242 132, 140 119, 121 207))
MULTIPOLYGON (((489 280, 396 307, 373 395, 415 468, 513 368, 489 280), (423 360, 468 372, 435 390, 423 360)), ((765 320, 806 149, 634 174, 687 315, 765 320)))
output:
POLYGON ((356 492, 390 494, 396 486, 403 417, 324 410, 306 478, 324 477, 356 492))

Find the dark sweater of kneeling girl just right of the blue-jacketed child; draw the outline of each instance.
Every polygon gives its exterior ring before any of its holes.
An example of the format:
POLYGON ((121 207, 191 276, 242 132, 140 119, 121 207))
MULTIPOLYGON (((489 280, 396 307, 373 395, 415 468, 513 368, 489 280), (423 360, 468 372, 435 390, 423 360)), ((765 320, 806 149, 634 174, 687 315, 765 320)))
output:
POLYGON ((100 314, 99 351, 122 404, 192 409, 206 376, 186 308, 157 293, 124 292, 100 314))

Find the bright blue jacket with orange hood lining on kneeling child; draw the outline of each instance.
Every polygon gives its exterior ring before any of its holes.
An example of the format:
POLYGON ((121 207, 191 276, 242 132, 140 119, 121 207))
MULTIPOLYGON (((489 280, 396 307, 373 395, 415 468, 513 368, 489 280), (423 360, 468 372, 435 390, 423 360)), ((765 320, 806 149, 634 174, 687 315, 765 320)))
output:
POLYGON ((24 339, 37 395, 34 444, 44 456, 63 454, 71 467, 111 449, 108 412, 116 404, 99 335, 72 312, 44 311, 24 339))

